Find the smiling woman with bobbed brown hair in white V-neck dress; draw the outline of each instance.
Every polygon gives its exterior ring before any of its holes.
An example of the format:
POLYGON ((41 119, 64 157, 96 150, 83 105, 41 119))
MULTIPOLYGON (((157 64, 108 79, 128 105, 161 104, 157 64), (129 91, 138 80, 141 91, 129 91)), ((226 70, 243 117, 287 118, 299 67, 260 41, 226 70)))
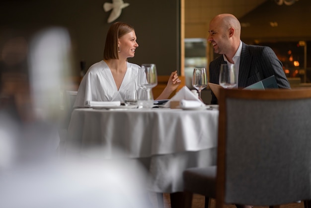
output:
MULTIPOLYGON (((138 47, 134 28, 115 22, 108 30, 104 59, 93 64, 83 77, 74 107, 84 107, 86 101, 121 101, 127 89, 138 89, 140 66, 127 62, 138 47)), ((171 73, 167 86, 156 100, 168 99, 180 84, 177 71, 171 73)))

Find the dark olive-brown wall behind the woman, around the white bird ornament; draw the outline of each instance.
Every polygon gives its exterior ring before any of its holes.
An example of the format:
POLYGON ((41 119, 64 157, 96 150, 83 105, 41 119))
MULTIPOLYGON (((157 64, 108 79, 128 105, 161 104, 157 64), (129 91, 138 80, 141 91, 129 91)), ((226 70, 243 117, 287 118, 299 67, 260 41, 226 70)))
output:
MULTIPOLYGON (((116 21, 134 26, 139 48, 128 61, 155 63, 159 75, 180 69, 180 3, 179 0, 124 0, 116 21)), ((22 31, 29 39, 40 28, 58 25, 68 28, 74 45, 75 73, 79 61, 86 68, 102 60, 109 12, 103 3, 111 0, 1 0, 0 39, 5 33, 22 31)))

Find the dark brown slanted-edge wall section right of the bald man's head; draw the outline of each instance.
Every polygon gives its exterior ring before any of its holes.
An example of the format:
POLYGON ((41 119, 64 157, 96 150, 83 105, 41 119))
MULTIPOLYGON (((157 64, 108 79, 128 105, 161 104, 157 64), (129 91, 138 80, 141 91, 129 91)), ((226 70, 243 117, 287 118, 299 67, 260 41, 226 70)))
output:
POLYGON ((268 0, 239 19, 244 25, 241 37, 253 42, 310 41, 311 30, 306 25, 310 19, 310 0, 299 0, 293 5, 277 5, 268 0))

